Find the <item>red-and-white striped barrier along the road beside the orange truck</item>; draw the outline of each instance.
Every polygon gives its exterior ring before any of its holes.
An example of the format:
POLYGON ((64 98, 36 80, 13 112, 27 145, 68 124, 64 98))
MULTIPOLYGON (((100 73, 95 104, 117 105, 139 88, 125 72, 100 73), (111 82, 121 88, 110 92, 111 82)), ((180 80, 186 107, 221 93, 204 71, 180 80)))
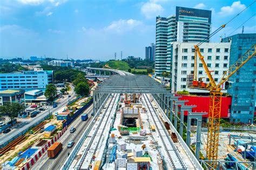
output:
POLYGON ((31 158, 23 167, 22 170, 28 170, 30 169, 35 163, 36 161, 42 157, 42 155, 47 151, 47 149, 54 144, 54 142, 56 142, 62 135, 63 133, 67 130, 67 127, 65 126, 62 131, 60 131, 53 139, 51 139, 50 141, 48 141, 43 147, 42 149, 33 157, 31 158))

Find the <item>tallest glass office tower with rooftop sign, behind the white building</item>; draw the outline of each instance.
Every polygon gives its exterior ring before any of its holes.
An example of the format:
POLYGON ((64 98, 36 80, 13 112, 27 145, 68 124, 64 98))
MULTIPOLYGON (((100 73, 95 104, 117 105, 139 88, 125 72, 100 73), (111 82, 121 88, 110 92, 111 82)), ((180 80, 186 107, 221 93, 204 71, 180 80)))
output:
MULTIPOLYGON (((163 71, 172 71, 172 42, 201 42, 210 35, 211 13, 209 10, 176 6, 176 15, 157 17, 156 76, 160 76, 163 71)), ((209 39, 205 42, 209 42, 209 39)))

